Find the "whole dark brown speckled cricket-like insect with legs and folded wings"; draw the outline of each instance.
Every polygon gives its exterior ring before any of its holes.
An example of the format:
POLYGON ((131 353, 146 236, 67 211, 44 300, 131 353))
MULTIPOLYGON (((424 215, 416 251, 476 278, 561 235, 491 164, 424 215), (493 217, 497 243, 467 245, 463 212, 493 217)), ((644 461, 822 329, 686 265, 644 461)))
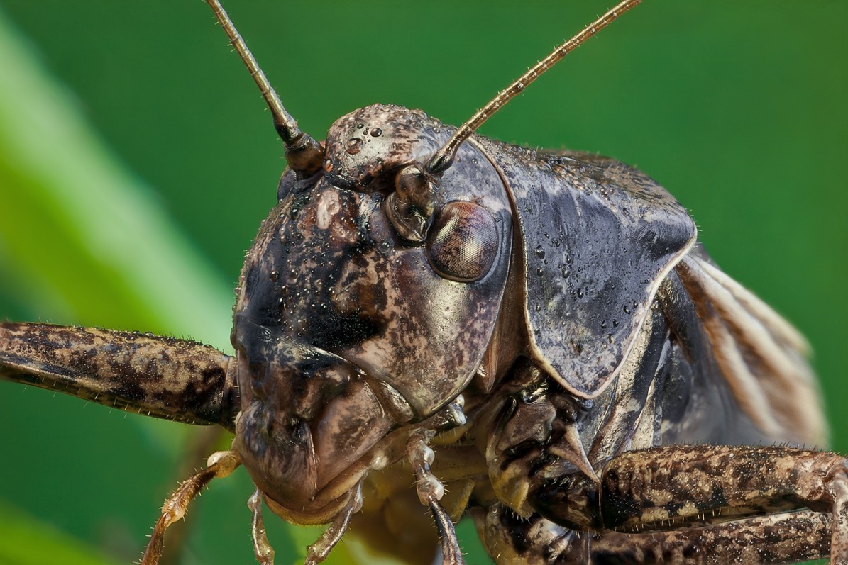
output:
POLYGON ((244 264, 236 357, 0 326, 5 378, 235 433, 166 502, 143 562, 240 464, 264 563, 260 501, 331 524, 309 562, 350 521, 410 562, 460 562, 463 512, 498 562, 845 562, 845 460, 756 447, 823 438, 805 343, 660 186, 392 106, 318 143, 264 92, 289 169, 244 264))

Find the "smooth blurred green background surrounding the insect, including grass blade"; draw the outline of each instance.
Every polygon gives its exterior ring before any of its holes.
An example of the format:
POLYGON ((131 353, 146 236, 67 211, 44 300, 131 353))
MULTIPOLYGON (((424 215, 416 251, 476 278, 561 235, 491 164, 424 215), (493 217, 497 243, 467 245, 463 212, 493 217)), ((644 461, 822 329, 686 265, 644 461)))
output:
MULTIPOLYGON (((372 102, 457 125, 609 1, 227 8, 289 111, 322 137, 372 102)), ((812 342, 843 452, 845 29, 844 0, 651 0, 483 127, 620 158, 672 191, 722 268, 812 342)), ((0 40, 0 319, 229 350, 231 289, 284 162, 209 8, 0 0, 0 40)), ((0 565, 137 559, 192 441, 178 424, 8 383, 0 430, 0 565)), ((190 512, 182 563, 254 562, 251 487, 236 475, 190 512)), ((278 563, 317 535, 266 523, 278 563)))

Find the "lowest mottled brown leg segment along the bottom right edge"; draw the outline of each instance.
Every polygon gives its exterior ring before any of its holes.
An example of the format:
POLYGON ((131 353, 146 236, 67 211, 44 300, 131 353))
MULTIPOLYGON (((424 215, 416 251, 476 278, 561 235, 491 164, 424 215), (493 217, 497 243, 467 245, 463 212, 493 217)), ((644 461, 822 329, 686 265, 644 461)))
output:
POLYGON ((527 565, 795 563, 827 557, 830 546, 830 517, 809 510, 638 534, 580 533, 501 505, 472 515, 489 555, 527 565))

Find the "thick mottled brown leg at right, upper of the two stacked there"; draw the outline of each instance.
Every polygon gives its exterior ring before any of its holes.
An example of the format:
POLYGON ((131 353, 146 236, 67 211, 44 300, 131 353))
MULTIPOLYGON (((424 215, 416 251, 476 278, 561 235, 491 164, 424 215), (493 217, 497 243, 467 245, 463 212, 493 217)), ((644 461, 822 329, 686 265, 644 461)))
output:
POLYGON ((808 507, 833 517, 832 562, 848 563, 848 461, 789 447, 667 446, 604 468, 605 527, 669 529, 808 507), (664 523, 671 525, 663 525, 664 523))

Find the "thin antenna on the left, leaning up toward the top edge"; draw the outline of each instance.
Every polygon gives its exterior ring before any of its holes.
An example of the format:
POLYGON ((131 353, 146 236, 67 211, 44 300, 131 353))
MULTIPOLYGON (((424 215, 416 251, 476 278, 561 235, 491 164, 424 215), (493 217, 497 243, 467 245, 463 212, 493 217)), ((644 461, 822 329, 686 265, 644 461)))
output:
POLYGON ((254 77, 256 86, 259 86, 259 91, 262 92, 262 97, 265 98, 268 108, 271 108, 276 132, 283 143, 286 144, 288 166, 302 177, 315 174, 321 169, 321 164, 324 161, 324 147, 321 147, 321 144, 315 141, 312 136, 298 128, 298 122, 283 107, 282 100, 271 87, 271 83, 265 77, 262 69, 259 68, 256 58, 254 58, 253 53, 250 53, 247 43, 238 33, 232 19, 226 14, 220 2, 218 0, 206 0, 206 3, 212 8, 215 19, 218 19, 221 27, 226 31, 226 35, 230 37, 230 44, 235 47, 239 57, 242 58, 243 63, 250 71, 250 75, 254 77))

